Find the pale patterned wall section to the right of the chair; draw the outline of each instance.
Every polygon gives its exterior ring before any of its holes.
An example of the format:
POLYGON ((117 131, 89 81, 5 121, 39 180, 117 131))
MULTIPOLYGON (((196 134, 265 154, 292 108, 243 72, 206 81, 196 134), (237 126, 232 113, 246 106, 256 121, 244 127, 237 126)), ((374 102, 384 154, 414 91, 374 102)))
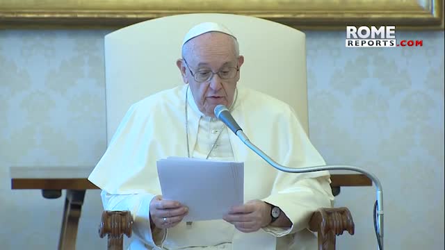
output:
MULTIPOLYGON (((350 49, 343 33, 308 33, 309 127, 328 163, 382 182, 387 249, 444 248, 444 33, 401 32, 423 47, 350 49)), ((345 188, 356 235, 340 249, 377 249, 373 188, 345 188)))

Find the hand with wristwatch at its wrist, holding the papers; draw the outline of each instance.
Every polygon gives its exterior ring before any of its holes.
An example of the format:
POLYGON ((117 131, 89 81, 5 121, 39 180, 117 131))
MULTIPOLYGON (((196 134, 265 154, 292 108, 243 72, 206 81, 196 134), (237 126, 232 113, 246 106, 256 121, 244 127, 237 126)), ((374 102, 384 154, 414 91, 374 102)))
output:
POLYGON ((270 205, 264 201, 248 201, 242 206, 233 207, 223 219, 241 232, 252 233, 270 223, 270 209, 270 205))

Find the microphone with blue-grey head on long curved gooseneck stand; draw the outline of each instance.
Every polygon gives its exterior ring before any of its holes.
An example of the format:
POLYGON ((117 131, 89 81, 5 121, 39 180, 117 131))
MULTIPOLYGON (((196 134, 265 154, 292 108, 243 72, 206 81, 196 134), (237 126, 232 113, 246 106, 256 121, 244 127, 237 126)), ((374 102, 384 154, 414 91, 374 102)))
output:
POLYGON ((366 176, 368 176, 374 183, 375 189, 376 189, 376 201, 374 206, 374 229, 375 229, 375 235, 377 236, 377 242, 378 242, 378 249, 383 250, 383 190, 382 190, 382 184, 380 183, 377 176, 370 172, 366 172, 366 170, 361 169, 359 167, 354 166, 348 166, 348 165, 321 165, 321 166, 314 166, 314 167, 299 167, 299 168, 292 168, 292 167, 285 167, 283 165, 278 164, 270 158, 266 153, 261 151, 257 146, 255 146, 252 142, 250 142, 249 138, 244 134, 241 127, 236 123, 234 117, 230 115, 229 110, 224 105, 218 105, 214 109, 215 117, 220 119, 221 122, 226 124, 230 130, 232 130, 238 138, 240 138, 243 143, 248 146, 252 151, 257 153, 258 156, 266 160, 269 165, 272 167, 275 167, 275 169, 278 169, 282 172, 287 173, 307 173, 307 172, 318 172, 323 170, 350 170, 353 172, 359 172, 366 176))

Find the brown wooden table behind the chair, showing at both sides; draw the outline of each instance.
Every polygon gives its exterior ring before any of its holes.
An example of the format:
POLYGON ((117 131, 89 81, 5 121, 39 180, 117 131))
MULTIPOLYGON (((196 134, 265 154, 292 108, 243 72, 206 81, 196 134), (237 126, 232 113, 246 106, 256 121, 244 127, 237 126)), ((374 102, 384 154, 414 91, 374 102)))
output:
MULTIPOLYGON (((42 190, 47 199, 61 197, 66 190, 62 228, 58 249, 75 250, 76 236, 86 190, 97 190, 87 177, 93 167, 11 167, 13 190, 42 190)), ((364 174, 332 174, 332 193, 337 196, 341 187, 371 186, 372 181, 364 174)))

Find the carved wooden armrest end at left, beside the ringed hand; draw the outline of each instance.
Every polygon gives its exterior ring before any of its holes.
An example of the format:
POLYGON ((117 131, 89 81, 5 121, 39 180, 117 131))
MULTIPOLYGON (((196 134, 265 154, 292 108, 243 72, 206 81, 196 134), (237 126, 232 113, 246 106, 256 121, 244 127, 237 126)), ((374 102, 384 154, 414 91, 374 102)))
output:
POLYGON ((124 235, 131 237, 133 217, 130 211, 104 211, 99 226, 99 236, 108 235, 108 250, 123 250, 124 235))

